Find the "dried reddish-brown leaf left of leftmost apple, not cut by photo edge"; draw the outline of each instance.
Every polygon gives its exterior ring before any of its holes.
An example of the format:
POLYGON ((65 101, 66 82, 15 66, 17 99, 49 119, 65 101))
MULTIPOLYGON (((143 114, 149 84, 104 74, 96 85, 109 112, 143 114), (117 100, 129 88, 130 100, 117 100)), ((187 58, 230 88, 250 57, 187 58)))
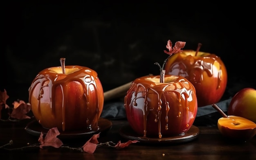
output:
POLYGON ((27 119, 31 118, 26 114, 31 110, 31 105, 29 103, 25 103, 25 101, 14 101, 13 103, 13 111, 11 112, 11 118, 16 119, 27 119))

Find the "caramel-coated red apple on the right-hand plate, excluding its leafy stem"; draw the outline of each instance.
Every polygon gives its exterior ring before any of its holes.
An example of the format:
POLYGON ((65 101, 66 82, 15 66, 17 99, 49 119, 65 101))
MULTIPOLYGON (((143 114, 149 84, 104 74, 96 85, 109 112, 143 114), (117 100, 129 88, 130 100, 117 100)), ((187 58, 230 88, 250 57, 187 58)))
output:
POLYGON ((181 76, 145 76, 132 81, 124 99, 127 120, 144 137, 162 138, 186 133, 195 120, 195 88, 181 76))

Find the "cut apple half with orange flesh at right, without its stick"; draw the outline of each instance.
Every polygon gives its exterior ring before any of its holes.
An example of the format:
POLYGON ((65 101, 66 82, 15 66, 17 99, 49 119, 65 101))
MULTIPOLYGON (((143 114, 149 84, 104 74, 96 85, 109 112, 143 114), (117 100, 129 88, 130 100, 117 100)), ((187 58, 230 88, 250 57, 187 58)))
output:
POLYGON ((249 140, 256 135, 256 124, 240 116, 219 118, 218 129, 223 136, 236 140, 249 140))

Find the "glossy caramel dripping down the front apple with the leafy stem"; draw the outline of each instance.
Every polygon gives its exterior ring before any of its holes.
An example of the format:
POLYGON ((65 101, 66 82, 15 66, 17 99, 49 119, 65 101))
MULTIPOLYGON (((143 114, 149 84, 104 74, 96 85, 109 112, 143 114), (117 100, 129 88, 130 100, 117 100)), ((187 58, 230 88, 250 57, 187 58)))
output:
MULTIPOLYGON (((161 114, 162 114, 162 108, 164 108, 166 110, 166 115, 165 115, 165 129, 168 130, 168 113, 171 112, 170 111, 170 106, 169 103, 166 101, 166 103, 163 105, 162 104, 162 98, 166 100, 166 96, 168 96, 168 92, 173 92, 177 95, 178 97, 178 101, 180 102, 180 105, 177 107, 186 107, 186 117, 187 117, 187 121, 189 118, 189 104, 188 104, 188 98, 190 95, 191 90, 186 90, 186 87, 184 86, 185 80, 184 79, 180 79, 180 81, 177 83, 163 83, 164 87, 162 87, 162 89, 160 89, 161 86, 163 85, 153 85, 150 84, 152 82, 145 82, 144 83, 137 83, 137 85, 135 85, 135 83, 132 83, 130 90, 134 90, 132 88, 136 88, 135 92, 133 92, 133 97, 132 97, 132 102, 130 103, 129 107, 131 108, 131 105, 133 104, 134 106, 137 106, 138 103, 136 101, 138 101, 138 99, 143 98, 144 99, 144 110, 142 110, 143 114, 144 114, 144 137, 146 137, 146 130, 147 130, 147 116, 149 114, 149 112, 153 112, 155 113, 155 123, 158 123, 158 135, 159 138, 162 138, 162 133, 161 133, 161 114), (175 88, 173 90, 169 90, 166 88, 169 88, 170 86, 174 86, 175 88), (178 87, 180 86, 180 87, 178 87), (144 91, 141 91, 141 87, 144 88, 144 91), (150 103, 148 101, 148 95, 152 94, 152 92, 154 94, 157 95, 157 99, 158 99, 158 107, 157 109, 152 109, 148 107, 148 103, 150 103), (183 97, 182 97, 183 95, 183 97), (186 106, 182 106, 182 99, 184 98, 185 100, 185 105, 186 106)), ((140 103, 141 104, 141 103, 140 103)), ((142 106, 141 106, 142 107, 142 106)), ((176 107, 176 106, 175 106, 176 107)), ((182 114, 182 112, 178 112, 177 113, 177 117, 180 116, 182 114)), ((189 125, 187 125, 187 127, 189 127, 189 125)))

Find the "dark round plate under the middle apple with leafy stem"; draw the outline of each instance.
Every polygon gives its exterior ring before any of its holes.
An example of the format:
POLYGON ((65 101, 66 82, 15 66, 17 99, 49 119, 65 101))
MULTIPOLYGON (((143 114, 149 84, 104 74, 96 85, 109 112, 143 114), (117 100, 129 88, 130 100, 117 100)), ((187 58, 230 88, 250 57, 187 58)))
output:
POLYGON ((145 143, 181 143, 181 142, 188 142, 194 140, 198 137, 200 131, 199 128, 196 126, 191 126, 191 128, 182 135, 171 136, 171 137, 162 137, 162 138, 148 138, 143 136, 138 136, 135 131, 130 127, 130 125, 125 125, 121 127, 119 130, 119 134, 126 139, 129 140, 139 140, 140 142, 145 143))

